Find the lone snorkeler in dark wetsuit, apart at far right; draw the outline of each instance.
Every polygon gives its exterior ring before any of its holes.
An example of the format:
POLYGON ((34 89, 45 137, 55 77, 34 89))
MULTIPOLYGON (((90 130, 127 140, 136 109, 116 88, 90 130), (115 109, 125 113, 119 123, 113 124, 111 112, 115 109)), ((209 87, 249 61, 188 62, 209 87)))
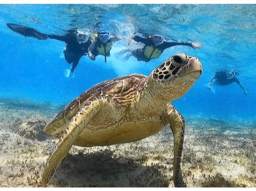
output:
POLYGON ((217 86, 227 86, 228 84, 231 84, 233 82, 236 82, 240 88, 244 91, 244 95, 247 95, 247 92, 245 91, 243 85, 240 83, 240 81, 236 78, 236 75, 238 75, 238 72, 216 72, 214 76, 212 76, 208 89, 211 89, 213 93, 215 93, 215 85, 217 86))

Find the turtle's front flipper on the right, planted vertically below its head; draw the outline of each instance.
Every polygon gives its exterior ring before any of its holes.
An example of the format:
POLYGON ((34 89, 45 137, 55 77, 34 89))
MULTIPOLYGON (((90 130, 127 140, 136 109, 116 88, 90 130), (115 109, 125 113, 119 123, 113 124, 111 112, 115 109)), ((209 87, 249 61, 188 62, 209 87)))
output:
POLYGON ((187 187, 181 174, 180 161, 183 147, 185 121, 179 111, 168 104, 164 112, 164 121, 170 124, 173 133, 173 183, 175 187, 187 187))

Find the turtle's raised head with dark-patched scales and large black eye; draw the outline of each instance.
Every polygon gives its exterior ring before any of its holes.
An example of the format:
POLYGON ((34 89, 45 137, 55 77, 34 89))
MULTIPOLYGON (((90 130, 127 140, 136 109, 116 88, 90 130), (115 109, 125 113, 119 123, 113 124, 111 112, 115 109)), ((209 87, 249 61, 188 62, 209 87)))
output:
POLYGON ((198 58, 180 53, 153 70, 149 79, 156 93, 170 101, 187 93, 202 72, 203 67, 198 58))

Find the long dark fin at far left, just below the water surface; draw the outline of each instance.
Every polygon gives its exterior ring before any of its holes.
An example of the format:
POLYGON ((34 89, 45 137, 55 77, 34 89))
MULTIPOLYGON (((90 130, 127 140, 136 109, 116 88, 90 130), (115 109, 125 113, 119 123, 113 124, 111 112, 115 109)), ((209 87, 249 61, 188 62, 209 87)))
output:
POLYGON ((7 27, 9 27, 12 31, 19 33, 23 36, 28 36, 32 38, 36 38, 38 40, 46 40, 48 36, 46 34, 40 33, 33 28, 29 28, 22 25, 6 23, 7 27))

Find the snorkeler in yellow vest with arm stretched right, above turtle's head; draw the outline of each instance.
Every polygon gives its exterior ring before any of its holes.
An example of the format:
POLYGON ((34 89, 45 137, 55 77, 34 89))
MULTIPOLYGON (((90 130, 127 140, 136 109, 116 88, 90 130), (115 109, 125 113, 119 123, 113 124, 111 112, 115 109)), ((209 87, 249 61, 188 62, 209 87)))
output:
POLYGON ((131 50, 129 48, 123 49, 120 52, 115 53, 117 59, 121 59, 125 62, 131 56, 134 56, 138 61, 148 62, 151 59, 158 58, 165 49, 172 46, 185 45, 194 49, 201 48, 201 46, 196 42, 177 42, 174 40, 172 42, 168 42, 161 35, 148 35, 147 38, 132 35, 130 38, 127 38, 125 42, 129 45, 132 39, 136 42, 142 42, 145 44, 144 47, 136 50, 131 50))

